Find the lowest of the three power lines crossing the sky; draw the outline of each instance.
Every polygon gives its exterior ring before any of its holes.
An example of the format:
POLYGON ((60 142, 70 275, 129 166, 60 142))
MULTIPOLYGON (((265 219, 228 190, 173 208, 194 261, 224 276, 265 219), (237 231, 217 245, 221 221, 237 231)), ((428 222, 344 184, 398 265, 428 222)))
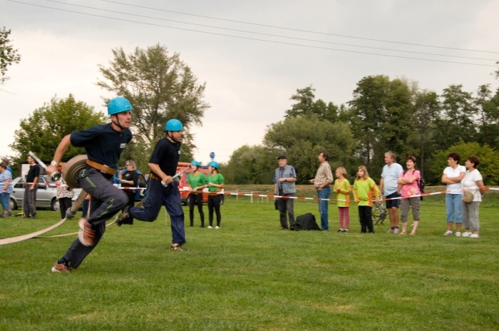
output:
POLYGON ((142 21, 133 21, 130 19, 121 19, 121 18, 115 18, 115 17, 110 17, 110 16, 103 16, 103 15, 98 15, 98 14, 89 14, 89 13, 83 13, 81 11, 72 11, 68 9, 60 9, 60 8, 53 8, 50 6, 42 6, 39 4, 30 4, 26 3, 23 1, 16 1, 16 0, 7 0, 11 2, 16 2, 18 4, 26 4, 28 6, 37 6, 41 8, 46 8, 46 9, 53 9, 57 11, 65 11, 68 13, 73 13, 73 14, 81 14, 81 15, 86 15, 86 16, 93 16, 93 17, 100 17, 103 19, 113 19, 115 21, 125 21, 125 22, 130 22, 130 23, 135 23, 135 24, 143 24, 143 25, 148 25, 148 26, 160 26, 163 28, 168 28, 168 29, 176 29, 176 30, 181 30, 181 31, 190 31, 190 32, 197 32, 200 34, 211 34, 215 36, 226 36, 226 37, 231 37, 231 38, 237 38, 237 39, 246 39, 246 40, 253 40, 253 41, 264 41, 267 43, 272 43, 272 44, 282 44, 282 45, 289 45, 289 46, 301 46, 301 47, 307 47, 310 49, 326 49, 330 51, 342 51, 342 52, 347 52, 347 53, 354 53, 354 54, 366 54, 366 55, 374 55, 374 56, 387 56, 391 58, 406 58, 406 59, 411 59, 411 60, 418 60, 418 61, 433 61, 433 62, 441 62, 441 63, 455 63, 455 64, 465 64, 465 65, 470 65, 470 66, 490 66, 490 67, 495 67, 495 65, 492 64, 483 64, 483 63, 469 63, 469 62, 458 62, 458 61, 445 61, 445 60, 437 60, 437 59, 431 59, 431 58, 415 58, 411 56, 398 56, 398 55, 391 55, 391 54, 379 54, 379 53, 370 53, 370 52, 363 52, 363 51, 351 51, 351 50, 346 50, 346 49, 332 49, 329 47, 321 47, 321 46, 313 46, 313 45, 304 45, 304 44, 294 44, 294 43, 287 43, 284 41, 271 41, 271 40, 266 40, 266 39, 257 39, 257 38, 251 38, 251 37, 246 37, 246 36, 234 36, 230 34, 219 34, 215 32, 208 32, 208 31, 200 31, 200 30, 194 30, 194 29, 185 29, 185 28, 179 28, 175 26, 165 26, 161 24, 153 24, 153 23, 148 23, 148 22, 142 22, 142 21))

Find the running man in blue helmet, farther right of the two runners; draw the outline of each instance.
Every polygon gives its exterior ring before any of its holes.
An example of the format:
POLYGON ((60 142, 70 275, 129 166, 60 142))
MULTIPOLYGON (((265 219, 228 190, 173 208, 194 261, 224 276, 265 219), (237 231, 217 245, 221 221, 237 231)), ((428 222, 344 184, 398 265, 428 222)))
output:
POLYGON ((180 158, 183 126, 177 119, 170 119, 165 124, 165 137, 161 138, 149 159, 150 180, 148 196, 143 207, 132 207, 124 210, 116 223, 122 225, 133 219, 153 222, 158 218, 161 206, 164 205, 171 218, 172 250, 183 250, 185 243, 184 210, 180 201, 178 180, 173 180, 180 158))

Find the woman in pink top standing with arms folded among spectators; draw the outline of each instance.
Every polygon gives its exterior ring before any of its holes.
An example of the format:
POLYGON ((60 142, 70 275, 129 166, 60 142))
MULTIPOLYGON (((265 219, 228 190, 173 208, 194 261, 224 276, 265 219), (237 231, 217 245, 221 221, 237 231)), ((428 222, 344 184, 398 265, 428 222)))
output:
POLYGON ((416 157, 408 156, 406 159, 407 170, 401 173, 397 183, 399 185, 399 193, 402 197, 400 202, 402 231, 400 235, 407 234, 407 219, 409 215, 409 207, 412 209, 413 228, 411 235, 416 235, 419 225, 419 203, 421 201, 421 190, 419 190, 419 180, 421 180, 421 172, 416 170, 416 157), (413 196, 416 195, 416 196, 413 196))

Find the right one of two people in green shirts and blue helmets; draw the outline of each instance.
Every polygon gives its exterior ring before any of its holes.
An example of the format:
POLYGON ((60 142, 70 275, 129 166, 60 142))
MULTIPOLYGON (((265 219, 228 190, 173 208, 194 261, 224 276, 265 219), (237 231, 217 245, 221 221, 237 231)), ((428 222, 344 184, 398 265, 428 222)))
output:
POLYGON ((222 198, 224 195, 224 176, 220 173, 218 168, 220 165, 211 161, 208 163, 208 171, 210 171, 210 175, 208 175, 208 183, 205 187, 208 188, 208 220, 210 221, 209 229, 213 228, 213 211, 217 214, 217 226, 215 229, 220 229, 220 220, 222 220, 222 214, 220 214, 220 205, 222 205, 222 198))

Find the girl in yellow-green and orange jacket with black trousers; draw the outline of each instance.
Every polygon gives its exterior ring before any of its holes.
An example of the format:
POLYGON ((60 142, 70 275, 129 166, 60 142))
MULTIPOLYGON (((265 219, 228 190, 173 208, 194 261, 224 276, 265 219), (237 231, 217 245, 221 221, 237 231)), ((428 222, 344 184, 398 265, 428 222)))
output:
POLYGON ((354 182, 354 198, 356 203, 359 203, 361 233, 374 233, 372 218, 373 199, 376 200, 376 203, 379 202, 379 188, 374 183, 374 180, 369 177, 367 168, 364 165, 357 168, 357 178, 354 182))

